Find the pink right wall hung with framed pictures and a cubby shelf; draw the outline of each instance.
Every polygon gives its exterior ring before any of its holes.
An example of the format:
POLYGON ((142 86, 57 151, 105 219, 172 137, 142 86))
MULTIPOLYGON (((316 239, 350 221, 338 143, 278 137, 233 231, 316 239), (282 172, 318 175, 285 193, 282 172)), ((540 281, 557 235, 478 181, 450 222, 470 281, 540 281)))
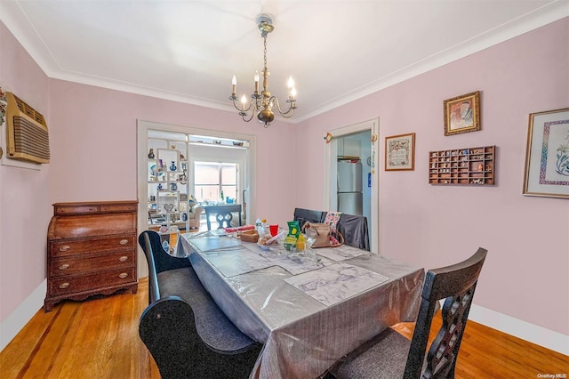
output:
MULTIPOLYGON (((380 253, 435 268, 489 255, 475 303, 569 334, 569 200, 522 195, 528 115, 569 107, 569 18, 314 117, 299 149, 321 166, 325 132, 380 117, 380 253), (482 93, 482 130, 445 137, 443 101, 482 93), (416 133, 413 172, 385 172, 384 141, 416 133), (431 186, 429 150, 496 145, 497 185, 431 186)), ((301 173, 320 208, 323 175, 301 173)), ((373 230, 378 232, 378 230, 373 230)))

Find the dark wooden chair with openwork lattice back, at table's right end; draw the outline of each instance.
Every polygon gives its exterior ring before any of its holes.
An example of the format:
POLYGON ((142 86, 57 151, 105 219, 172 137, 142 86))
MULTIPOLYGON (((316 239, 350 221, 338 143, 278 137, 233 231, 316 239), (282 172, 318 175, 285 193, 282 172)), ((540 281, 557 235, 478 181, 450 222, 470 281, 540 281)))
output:
POLYGON ((388 328, 341 359, 325 377, 370 379, 453 378, 470 304, 487 251, 464 262, 429 270, 421 294, 421 308, 413 339, 388 328), (425 358, 437 302, 445 299, 443 324, 425 358), (331 375, 330 375, 331 374, 331 375))

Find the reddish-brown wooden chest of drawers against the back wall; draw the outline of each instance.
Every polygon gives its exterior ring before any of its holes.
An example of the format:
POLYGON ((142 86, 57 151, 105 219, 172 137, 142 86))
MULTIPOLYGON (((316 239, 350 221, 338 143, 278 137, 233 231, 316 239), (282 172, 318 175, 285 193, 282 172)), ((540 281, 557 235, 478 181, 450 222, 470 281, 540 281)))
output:
POLYGON ((65 299, 137 292, 137 207, 136 201, 53 205, 44 311, 65 299))

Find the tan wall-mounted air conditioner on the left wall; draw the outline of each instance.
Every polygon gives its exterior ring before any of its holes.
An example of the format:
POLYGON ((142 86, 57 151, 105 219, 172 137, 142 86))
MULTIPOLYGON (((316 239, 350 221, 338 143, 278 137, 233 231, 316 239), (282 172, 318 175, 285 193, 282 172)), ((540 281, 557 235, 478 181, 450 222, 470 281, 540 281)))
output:
POLYGON ((6 93, 6 101, 6 157, 36 165, 50 163, 44 116, 13 93, 6 93))

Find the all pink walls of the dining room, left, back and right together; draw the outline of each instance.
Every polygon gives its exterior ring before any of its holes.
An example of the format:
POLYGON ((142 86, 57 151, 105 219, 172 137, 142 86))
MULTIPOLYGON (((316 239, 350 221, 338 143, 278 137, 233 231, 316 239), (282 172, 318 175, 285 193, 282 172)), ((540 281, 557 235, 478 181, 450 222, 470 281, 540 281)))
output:
POLYGON ((521 195, 528 114, 569 105, 568 32, 560 20, 300 125, 264 129, 233 113, 49 80, 0 24, 0 85, 48 117, 52 143, 41 172, 0 166, 0 320, 45 278, 53 202, 136 198, 137 119, 256 135, 254 201, 258 214, 281 223, 294 206, 322 207, 325 131, 380 117, 380 167, 385 136, 417 133, 415 171, 378 170, 381 224, 372 232, 381 254, 431 268, 484 246, 475 302, 569 334, 569 203, 521 195), (445 137, 442 102, 475 90, 482 131, 445 137), (429 150, 494 144, 496 186, 427 183, 429 150))

